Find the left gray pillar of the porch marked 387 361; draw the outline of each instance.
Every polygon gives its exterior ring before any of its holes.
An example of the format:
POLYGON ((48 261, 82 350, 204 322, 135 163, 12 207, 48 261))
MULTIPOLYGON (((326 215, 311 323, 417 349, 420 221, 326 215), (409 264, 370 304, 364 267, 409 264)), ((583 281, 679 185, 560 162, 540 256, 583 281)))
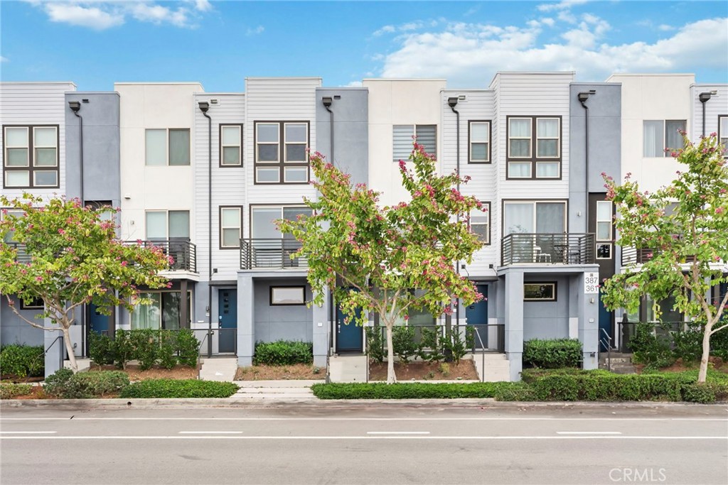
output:
POLYGON ((521 380, 523 370, 523 271, 505 276, 505 353, 510 380, 521 380))

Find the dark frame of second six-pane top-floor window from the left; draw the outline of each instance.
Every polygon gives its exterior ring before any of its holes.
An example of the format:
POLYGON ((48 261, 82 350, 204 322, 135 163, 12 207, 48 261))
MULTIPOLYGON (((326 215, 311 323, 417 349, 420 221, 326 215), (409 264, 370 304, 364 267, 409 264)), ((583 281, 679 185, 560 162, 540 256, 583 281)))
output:
POLYGON ((254 153, 254 167, 253 177, 256 184, 260 185, 305 185, 309 183, 311 179, 311 169, 309 167, 308 155, 306 153, 311 143, 311 122, 310 121, 254 121, 253 122, 253 149, 254 153), (261 140, 259 136, 259 129, 264 125, 275 125, 277 127, 277 138, 276 140, 261 140), (291 139, 293 137, 293 130, 296 129, 296 125, 305 125, 305 140, 291 139), (292 132, 289 133, 288 129, 292 132), (261 148, 264 146, 275 145, 276 159, 261 160, 261 148), (289 155, 289 152, 295 153, 300 151, 300 147, 303 146, 303 157, 302 159, 293 158, 289 155), (305 169, 305 180, 296 180, 289 177, 289 174, 295 172, 301 172, 301 169, 305 169), (263 171, 274 173, 277 172, 277 178, 275 180, 261 180, 261 173, 263 171))

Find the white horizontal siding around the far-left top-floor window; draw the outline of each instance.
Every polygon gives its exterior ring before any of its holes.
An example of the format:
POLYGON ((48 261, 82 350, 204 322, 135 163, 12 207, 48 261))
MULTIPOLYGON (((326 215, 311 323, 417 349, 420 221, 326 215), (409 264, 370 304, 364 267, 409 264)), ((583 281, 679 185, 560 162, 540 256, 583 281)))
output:
MULTIPOLYGON (((35 188, 30 192, 43 197, 66 193, 66 98, 64 93, 76 91, 68 83, 0 83, 0 125, 58 125, 59 188, 35 188)), ((4 136, 0 136, 0 167, 5 164, 4 136)), ((4 172, 0 177, 0 194, 20 197, 28 189, 4 188, 4 172)))

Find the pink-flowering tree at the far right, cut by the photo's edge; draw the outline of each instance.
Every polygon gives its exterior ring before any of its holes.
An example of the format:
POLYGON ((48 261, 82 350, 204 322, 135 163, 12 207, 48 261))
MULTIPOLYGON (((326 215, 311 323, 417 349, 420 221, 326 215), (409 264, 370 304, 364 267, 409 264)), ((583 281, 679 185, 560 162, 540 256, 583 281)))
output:
MULTIPOLYGON (((684 133, 682 133, 684 136, 684 133)), ((604 284, 607 308, 635 311, 642 295, 675 299, 675 308, 703 326, 703 356, 698 382, 705 382, 711 335, 724 330, 721 321, 728 295, 713 300, 714 286, 728 281, 728 166, 716 134, 692 143, 672 156, 687 167, 655 193, 639 191, 625 179, 616 185, 605 177, 607 197, 617 204, 615 225, 622 248, 650 248, 644 262, 604 284), (674 206, 674 208, 673 208, 674 206)))

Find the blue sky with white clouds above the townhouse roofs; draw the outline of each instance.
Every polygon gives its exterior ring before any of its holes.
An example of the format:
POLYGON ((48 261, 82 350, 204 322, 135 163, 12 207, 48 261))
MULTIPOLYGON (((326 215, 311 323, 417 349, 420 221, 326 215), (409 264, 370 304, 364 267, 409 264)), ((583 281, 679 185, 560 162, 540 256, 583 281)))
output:
POLYGON ((2 1, 0 79, 200 81, 437 77, 496 71, 690 72, 728 82, 727 1, 2 1))

